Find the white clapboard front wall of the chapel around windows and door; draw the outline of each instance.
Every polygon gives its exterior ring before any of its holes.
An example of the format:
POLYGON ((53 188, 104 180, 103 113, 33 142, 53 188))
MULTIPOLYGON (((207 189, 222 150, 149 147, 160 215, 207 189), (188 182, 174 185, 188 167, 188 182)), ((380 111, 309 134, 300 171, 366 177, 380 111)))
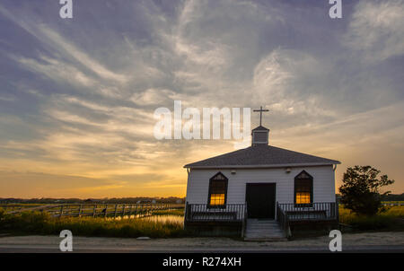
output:
POLYGON ((313 202, 335 202, 335 175, 332 166, 291 168, 286 173, 281 169, 236 169, 189 171, 187 202, 189 204, 206 204, 209 179, 221 171, 227 179, 227 204, 245 203, 247 183, 276 183, 276 202, 294 203, 294 177, 306 170, 313 177, 313 202))

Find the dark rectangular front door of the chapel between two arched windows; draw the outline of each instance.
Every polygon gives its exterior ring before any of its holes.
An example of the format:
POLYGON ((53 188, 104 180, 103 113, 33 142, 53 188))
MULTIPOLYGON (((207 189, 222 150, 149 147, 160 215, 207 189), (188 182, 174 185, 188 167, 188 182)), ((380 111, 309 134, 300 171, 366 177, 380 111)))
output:
POLYGON ((248 183, 246 202, 249 218, 275 218, 275 183, 248 183))

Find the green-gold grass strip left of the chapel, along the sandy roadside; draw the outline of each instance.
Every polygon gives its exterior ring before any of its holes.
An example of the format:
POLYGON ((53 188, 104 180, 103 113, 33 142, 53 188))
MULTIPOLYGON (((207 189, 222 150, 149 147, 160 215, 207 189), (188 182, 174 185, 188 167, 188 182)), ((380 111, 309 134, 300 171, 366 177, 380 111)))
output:
POLYGON ((172 238, 188 236, 182 223, 144 219, 106 220, 104 218, 55 218, 46 213, 4 214, 0 210, 0 232, 59 234, 70 230, 76 236, 172 238))

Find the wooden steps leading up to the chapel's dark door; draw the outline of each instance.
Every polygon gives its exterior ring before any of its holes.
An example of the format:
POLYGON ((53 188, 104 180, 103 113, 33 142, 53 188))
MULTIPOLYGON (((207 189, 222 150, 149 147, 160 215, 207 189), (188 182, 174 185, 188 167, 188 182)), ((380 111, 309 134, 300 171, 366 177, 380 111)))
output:
POLYGON ((248 219, 244 240, 287 240, 274 219, 248 219))

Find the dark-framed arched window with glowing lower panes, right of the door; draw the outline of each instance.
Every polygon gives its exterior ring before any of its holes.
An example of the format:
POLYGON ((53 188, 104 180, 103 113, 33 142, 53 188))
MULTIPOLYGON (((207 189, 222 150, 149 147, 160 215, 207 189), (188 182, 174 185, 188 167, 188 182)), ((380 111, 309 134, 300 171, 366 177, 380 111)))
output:
POLYGON ((294 204, 312 205, 312 175, 305 170, 294 177, 294 204))

